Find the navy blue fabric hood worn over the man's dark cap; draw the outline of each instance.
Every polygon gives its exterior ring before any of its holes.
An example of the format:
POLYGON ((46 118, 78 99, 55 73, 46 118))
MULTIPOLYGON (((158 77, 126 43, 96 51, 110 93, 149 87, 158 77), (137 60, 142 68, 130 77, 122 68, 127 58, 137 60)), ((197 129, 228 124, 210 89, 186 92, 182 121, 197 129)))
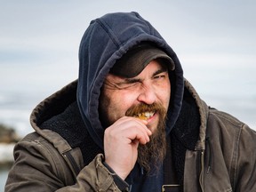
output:
POLYGON ((79 49, 79 77, 77 103, 92 139, 103 148, 104 129, 99 118, 100 87, 108 71, 125 52, 141 42, 156 44, 174 61, 172 72, 172 100, 168 110, 166 132, 172 130, 183 97, 183 71, 172 48, 151 24, 137 12, 109 13, 92 20, 81 40, 79 49))

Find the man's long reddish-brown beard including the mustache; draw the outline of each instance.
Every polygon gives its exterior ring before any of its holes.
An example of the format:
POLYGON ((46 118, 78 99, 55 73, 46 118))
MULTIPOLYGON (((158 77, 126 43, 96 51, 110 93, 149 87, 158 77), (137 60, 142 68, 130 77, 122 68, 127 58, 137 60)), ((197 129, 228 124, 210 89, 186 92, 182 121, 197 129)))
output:
POLYGON ((137 116, 145 111, 156 111, 159 115, 159 123, 156 131, 150 136, 150 141, 146 145, 139 145, 137 162, 144 168, 147 174, 154 174, 159 171, 166 155, 166 110, 160 104, 140 104, 139 106, 129 108, 126 116, 137 116))

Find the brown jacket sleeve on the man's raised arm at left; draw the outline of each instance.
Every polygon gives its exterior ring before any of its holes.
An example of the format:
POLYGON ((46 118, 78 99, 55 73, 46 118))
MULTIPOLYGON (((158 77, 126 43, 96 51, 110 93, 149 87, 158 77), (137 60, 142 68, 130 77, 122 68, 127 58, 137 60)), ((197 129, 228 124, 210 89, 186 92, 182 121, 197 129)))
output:
POLYGON ((22 140, 14 148, 14 159, 5 192, 121 191, 114 181, 115 173, 109 172, 102 164, 103 155, 96 156, 85 166, 76 180, 50 143, 46 146, 36 140, 22 140))

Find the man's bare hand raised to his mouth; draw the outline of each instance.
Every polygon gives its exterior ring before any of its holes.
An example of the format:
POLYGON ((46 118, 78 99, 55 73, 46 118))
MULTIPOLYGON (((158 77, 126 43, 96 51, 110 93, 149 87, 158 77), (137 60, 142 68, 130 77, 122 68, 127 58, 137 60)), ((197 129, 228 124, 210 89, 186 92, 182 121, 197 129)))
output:
POLYGON ((152 134, 146 124, 145 120, 124 116, 105 131, 105 162, 123 180, 137 161, 139 144, 145 145, 152 134))

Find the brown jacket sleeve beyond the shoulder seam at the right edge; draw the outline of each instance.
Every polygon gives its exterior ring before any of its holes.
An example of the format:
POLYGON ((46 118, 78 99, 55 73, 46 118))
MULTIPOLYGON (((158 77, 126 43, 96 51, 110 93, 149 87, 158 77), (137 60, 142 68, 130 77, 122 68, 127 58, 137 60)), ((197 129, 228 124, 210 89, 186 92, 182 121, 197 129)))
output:
POLYGON ((245 124, 237 142, 233 169, 235 191, 256 191, 256 132, 245 124))

